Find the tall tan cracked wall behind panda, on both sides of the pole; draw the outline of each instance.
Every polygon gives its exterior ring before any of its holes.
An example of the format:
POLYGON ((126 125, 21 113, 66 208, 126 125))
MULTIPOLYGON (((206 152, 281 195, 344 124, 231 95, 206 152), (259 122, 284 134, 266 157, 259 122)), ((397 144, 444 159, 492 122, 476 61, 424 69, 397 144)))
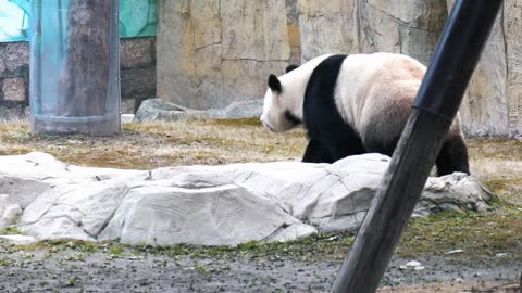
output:
MULTIPOLYGON (((269 74, 324 53, 428 64, 451 0, 159 0, 158 95, 194 109, 257 100, 269 74)), ((501 16, 461 107, 467 133, 522 132, 522 5, 501 16)))

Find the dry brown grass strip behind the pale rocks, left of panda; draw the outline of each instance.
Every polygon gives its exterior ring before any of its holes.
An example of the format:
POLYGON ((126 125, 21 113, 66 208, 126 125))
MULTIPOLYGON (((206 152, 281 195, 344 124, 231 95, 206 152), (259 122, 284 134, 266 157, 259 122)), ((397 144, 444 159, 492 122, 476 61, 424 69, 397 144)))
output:
POLYGON ((124 124, 120 136, 30 136, 25 122, 0 124, 0 155, 47 152, 70 164, 150 169, 175 165, 298 160, 302 129, 272 133, 257 119, 124 124))

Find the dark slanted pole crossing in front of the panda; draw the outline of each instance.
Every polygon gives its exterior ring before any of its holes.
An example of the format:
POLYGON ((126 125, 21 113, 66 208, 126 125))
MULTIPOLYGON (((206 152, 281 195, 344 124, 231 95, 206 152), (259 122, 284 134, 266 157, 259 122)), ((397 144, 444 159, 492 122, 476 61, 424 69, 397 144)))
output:
POLYGON ((375 292, 460 106, 501 0, 457 0, 389 168, 332 292, 375 292))

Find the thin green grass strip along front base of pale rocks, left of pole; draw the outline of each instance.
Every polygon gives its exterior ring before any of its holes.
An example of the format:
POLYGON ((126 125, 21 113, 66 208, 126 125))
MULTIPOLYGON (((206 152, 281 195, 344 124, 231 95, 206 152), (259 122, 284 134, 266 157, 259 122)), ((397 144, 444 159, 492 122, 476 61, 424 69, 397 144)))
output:
POLYGON ((171 258, 189 256, 192 258, 226 258, 243 256, 247 258, 269 257, 279 259, 283 256, 300 260, 313 262, 316 257, 340 259, 345 257, 353 242, 352 233, 327 234, 318 233, 288 242, 249 241, 237 246, 202 246, 174 244, 165 246, 126 245, 116 242, 90 243, 75 240, 41 241, 36 244, 13 246, 8 253, 27 252, 32 250, 49 253, 72 251, 64 260, 83 260, 90 253, 107 253, 108 256, 121 256, 129 252, 134 256, 163 255, 171 258))

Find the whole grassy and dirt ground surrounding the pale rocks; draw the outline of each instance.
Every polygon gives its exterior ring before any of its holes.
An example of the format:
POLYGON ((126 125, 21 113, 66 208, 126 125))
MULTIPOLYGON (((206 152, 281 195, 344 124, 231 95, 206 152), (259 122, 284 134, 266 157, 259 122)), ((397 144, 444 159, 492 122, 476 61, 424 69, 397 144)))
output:
MULTIPOLYGON (((271 133, 257 120, 127 124, 110 138, 32 137, 25 122, 0 124, 0 155, 42 151, 117 168, 299 160, 304 143, 302 129, 271 133)), ((522 141, 469 139, 468 145, 472 174, 498 195, 492 211, 410 220, 380 292, 520 292, 522 141), (448 254, 455 250, 462 252, 448 254), (424 269, 399 268, 410 260, 424 269)), ((0 292, 326 292, 352 240, 182 251, 0 241, 0 292)))

